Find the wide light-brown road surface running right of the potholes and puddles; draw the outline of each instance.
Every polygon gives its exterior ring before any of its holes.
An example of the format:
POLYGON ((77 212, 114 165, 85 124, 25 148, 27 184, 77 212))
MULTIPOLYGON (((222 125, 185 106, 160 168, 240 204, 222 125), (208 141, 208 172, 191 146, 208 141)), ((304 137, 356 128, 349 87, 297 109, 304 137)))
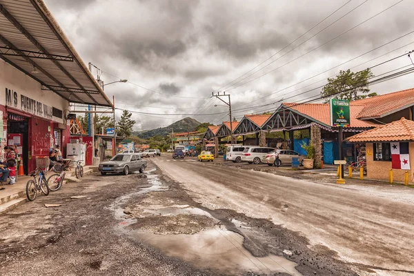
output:
POLYGON ((414 273, 411 188, 321 184, 195 159, 153 161, 206 208, 272 219, 377 275, 414 273))

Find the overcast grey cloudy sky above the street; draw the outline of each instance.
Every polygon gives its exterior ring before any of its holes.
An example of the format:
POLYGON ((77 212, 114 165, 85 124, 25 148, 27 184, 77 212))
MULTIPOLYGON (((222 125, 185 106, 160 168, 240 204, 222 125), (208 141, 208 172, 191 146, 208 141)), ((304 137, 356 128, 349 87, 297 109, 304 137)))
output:
MULTIPOLYGON (((188 116, 228 120, 227 108, 210 98, 219 90, 231 95, 237 119, 274 110, 282 101, 319 95, 320 89, 307 91, 339 70, 364 70, 414 50, 411 0, 44 1, 103 81, 128 79, 105 90, 117 108, 150 113, 133 114, 136 130, 188 116)), ((373 73, 410 64, 404 56, 373 73)), ((413 78, 371 91, 413 88, 413 78)))

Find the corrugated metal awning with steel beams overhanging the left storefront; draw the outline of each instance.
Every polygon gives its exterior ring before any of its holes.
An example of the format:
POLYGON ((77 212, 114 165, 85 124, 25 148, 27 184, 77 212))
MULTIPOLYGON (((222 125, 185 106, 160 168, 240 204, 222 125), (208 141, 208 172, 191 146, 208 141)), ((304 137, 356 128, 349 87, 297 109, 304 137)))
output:
POLYGON ((0 58, 72 103, 112 106, 42 0, 0 0, 0 58))

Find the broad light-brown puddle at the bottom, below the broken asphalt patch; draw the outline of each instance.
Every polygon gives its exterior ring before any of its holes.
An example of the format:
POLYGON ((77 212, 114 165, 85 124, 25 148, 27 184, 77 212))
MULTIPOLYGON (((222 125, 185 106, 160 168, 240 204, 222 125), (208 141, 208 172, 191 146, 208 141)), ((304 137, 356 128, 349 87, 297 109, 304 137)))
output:
POLYGON ((179 257, 200 268, 213 268, 234 275, 242 275, 248 271, 264 275, 287 273, 302 276, 295 269, 297 264, 284 257, 254 257, 242 246, 244 238, 223 226, 194 235, 156 235, 144 232, 135 234, 164 254, 179 257))

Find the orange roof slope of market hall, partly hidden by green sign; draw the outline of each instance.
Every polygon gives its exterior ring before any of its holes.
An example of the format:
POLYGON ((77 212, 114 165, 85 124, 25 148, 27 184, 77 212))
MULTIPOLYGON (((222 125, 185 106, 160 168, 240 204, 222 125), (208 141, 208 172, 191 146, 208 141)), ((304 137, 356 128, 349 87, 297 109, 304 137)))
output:
MULTIPOLYGON (((297 112, 302 113, 308 117, 311 117, 317 121, 320 121, 327 126, 331 126, 331 117, 330 117, 330 108, 329 103, 283 103, 284 106, 296 110, 297 112)), ((351 128, 372 128, 375 126, 380 126, 379 124, 374 124, 371 121, 364 121, 357 119, 359 113, 365 108, 365 106, 350 106, 351 112, 351 128)))

